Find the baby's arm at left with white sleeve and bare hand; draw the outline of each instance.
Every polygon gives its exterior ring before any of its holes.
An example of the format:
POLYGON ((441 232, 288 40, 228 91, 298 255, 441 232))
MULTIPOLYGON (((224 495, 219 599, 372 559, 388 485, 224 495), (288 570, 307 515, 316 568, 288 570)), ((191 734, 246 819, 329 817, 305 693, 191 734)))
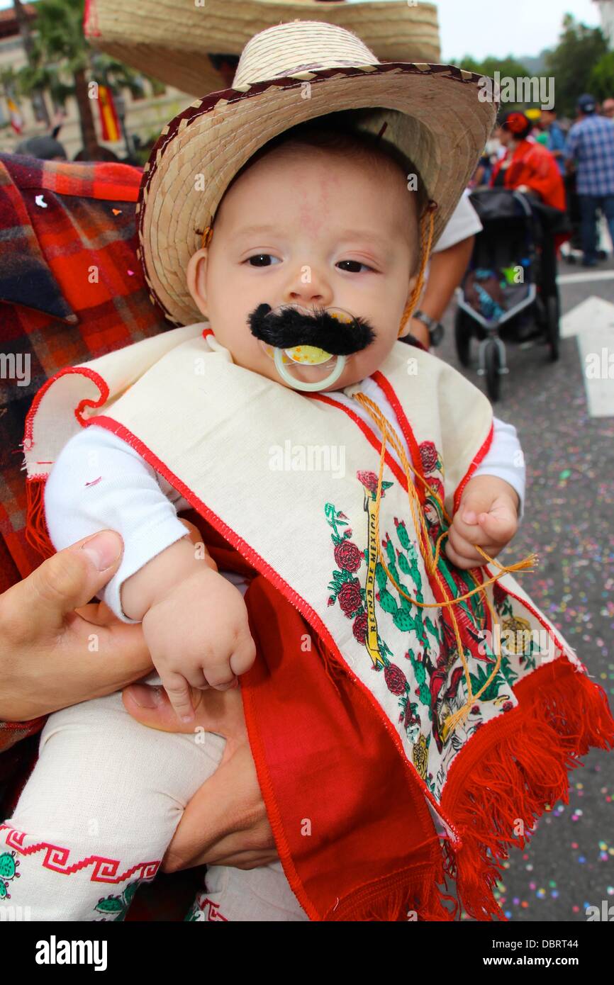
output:
POLYGON ((143 621, 173 707, 176 693, 189 716, 188 686, 228 686, 239 667, 247 669, 253 643, 239 589, 217 573, 211 557, 203 557, 204 545, 195 551, 171 495, 134 448, 92 425, 60 452, 45 487, 45 518, 58 551, 99 530, 121 535, 123 556, 101 598, 118 620, 143 621), (219 666, 222 654, 226 673, 219 666))

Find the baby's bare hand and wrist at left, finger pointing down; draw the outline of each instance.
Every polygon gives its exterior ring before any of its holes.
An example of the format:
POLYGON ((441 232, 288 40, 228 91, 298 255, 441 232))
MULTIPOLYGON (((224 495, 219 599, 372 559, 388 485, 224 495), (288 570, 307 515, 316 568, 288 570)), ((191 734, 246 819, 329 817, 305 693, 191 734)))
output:
POLYGON ((207 561, 190 540, 179 540, 121 587, 122 609, 142 621, 154 665, 184 722, 194 717, 190 687, 236 687, 256 655, 239 589, 207 561))

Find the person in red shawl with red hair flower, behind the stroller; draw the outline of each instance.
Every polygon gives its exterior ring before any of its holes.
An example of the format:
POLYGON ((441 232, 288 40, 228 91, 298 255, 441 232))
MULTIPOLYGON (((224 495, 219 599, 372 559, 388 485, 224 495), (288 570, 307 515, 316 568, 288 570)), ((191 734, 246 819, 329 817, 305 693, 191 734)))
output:
POLYGON ((525 113, 512 110, 504 116, 499 138, 506 155, 495 164, 491 187, 533 193, 544 205, 565 211, 565 185, 550 151, 528 137, 532 123, 525 113))

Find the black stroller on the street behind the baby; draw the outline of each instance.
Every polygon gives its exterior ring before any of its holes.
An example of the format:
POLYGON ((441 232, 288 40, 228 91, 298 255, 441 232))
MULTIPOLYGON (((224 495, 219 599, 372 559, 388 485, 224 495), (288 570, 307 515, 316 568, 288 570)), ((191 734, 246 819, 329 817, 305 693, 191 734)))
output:
POLYGON ((463 366, 471 361, 471 340, 479 341, 478 374, 486 376, 496 401, 509 372, 504 340, 541 338, 550 359, 559 358, 555 234, 567 232, 568 221, 558 209, 508 188, 480 188, 470 197, 484 229, 456 292, 454 339, 463 366))

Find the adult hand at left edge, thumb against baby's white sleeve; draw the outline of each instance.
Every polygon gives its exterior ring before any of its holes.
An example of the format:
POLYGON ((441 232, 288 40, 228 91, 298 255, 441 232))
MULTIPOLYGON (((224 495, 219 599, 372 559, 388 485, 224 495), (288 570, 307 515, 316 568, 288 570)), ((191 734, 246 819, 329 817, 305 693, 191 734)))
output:
POLYGON ((102 603, 87 605, 122 551, 119 534, 103 530, 0 595, 0 719, 28 721, 153 669, 140 625, 119 623, 102 603))

